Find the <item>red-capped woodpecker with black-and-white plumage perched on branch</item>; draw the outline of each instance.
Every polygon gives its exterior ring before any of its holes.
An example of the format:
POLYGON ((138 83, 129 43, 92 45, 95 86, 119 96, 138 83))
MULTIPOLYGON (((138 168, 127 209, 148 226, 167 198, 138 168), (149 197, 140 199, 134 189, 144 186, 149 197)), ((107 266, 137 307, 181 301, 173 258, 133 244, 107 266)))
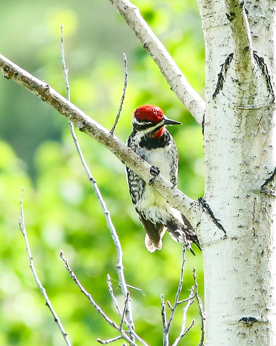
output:
MULTIPOLYGON (((178 181, 178 152, 166 125, 182 125, 168 119, 161 108, 146 104, 132 114, 132 134, 129 146, 143 160, 159 168, 160 173, 174 185, 178 181)), ((132 203, 145 228, 145 246, 149 252, 162 248, 162 238, 168 230, 171 238, 185 243, 193 253, 191 243, 199 248, 198 238, 190 222, 173 208, 159 192, 146 184, 136 173, 126 167, 126 180, 132 203)))

